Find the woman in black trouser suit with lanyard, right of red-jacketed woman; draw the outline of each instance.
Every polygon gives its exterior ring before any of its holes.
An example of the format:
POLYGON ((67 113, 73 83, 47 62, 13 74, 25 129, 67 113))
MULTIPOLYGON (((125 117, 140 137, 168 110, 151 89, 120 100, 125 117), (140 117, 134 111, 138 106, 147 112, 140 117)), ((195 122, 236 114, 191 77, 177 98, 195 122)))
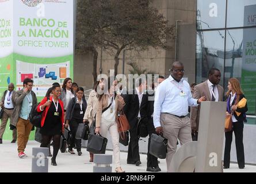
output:
POLYGON ((76 97, 72 98, 67 107, 66 112, 66 124, 65 127, 70 125, 71 130, 71 144, 68 147, 68 152, 70 154, 75 154, 73 148, 77 147, 78 156, 82 155, 81 152, 81 139, 75 139, 75 134, 77 133, 78 124, 83 122, 83 116, 85 115, 85 110, 87 107, 87 103, 85 98, 83 98, 83 88, 78 87, 76 91, 76 97))

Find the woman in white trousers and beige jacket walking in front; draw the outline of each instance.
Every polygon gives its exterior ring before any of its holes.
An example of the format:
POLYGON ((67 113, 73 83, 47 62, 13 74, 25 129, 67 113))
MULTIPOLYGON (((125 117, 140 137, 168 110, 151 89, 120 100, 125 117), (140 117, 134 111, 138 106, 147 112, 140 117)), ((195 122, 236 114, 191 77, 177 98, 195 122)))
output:
POLYGON ((98 101, 98 108, 96 114, 96 128, 95 133, 100 133, 101 136, 106 137, 110 133, 113 144, 113 158, 115 171, 117 173, 124 173, 120 163, 120 145, 119 145, 119 132, 117 129, 117 111, 123 109, 125 102, 123 97, 115 93, 115 86, 117 81, 110 84, 110 78, 107 83, 104 83, 104 94, 101 94, 98 101), (108 86, 106 86, 108 84, 108 86), (108 87, 108 90, 106 90, 108 87), (102 113, 102 110, 105 110, 102 113))

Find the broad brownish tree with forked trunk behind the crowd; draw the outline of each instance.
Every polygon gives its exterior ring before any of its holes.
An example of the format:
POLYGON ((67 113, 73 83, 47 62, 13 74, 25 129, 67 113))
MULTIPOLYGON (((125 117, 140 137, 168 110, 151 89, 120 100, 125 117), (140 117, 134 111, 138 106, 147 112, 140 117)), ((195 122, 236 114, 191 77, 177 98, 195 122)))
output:
POLYGON ((78 0, 77 16, 76 48, 113 53, 115 75, 123 49, 168 49, 173 37, 173 27, 149 0, 78 0))

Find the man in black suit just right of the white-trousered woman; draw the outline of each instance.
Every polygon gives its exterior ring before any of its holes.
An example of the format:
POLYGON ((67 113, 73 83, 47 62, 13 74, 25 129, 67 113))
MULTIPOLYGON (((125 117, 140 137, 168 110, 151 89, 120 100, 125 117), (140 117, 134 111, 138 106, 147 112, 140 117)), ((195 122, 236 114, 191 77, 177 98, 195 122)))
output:
POLYGON ((140 105, 142 104, 142 99, 145 95, 144 91, 146 88, 146 78, 137 78, 135 81, 135 90, 129 91, 129 93, 124 97, 124 113, 129 121, 129 133, 131 137, 128 147, 127 163, 135 164, 136 166, 140 166, 140 164, 142 164, 142 162, 140 162, 139 155, 139 136, 137 135, 137 124, 140 119, 140 105))

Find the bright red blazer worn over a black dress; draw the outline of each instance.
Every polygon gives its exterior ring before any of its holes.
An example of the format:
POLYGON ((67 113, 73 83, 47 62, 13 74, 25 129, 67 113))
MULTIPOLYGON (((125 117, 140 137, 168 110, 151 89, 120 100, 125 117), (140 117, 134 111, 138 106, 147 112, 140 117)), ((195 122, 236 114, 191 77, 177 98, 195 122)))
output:
MULTIPOLYGON (((53 101, 52 97, 50 97, 49 100, 53 101)), ((64 130, 64 108, 63 108, 63 102, 60 99, 58 99, 58 101, 59 101, 60 108, 62 108, 62 117, 60 117, 60 119, 62 121, 60 123, 62 124, 62 130, 64 130)), ((41 112, 40 106, 44 105, 45 102, 47 102, 47 97, 44 97, 42 99, 42 101, 40 102, 40 104, 37 105, 37 109, 36 109, 37 112, 41 112)), ((44 126, 44 121, 45 121, 45 118, 47 116, 48 110, 49 110, 49 106, 48 107, 46 106, 45 109, 43 110, 44 112, 42 114, 41 127, 44 126)))

